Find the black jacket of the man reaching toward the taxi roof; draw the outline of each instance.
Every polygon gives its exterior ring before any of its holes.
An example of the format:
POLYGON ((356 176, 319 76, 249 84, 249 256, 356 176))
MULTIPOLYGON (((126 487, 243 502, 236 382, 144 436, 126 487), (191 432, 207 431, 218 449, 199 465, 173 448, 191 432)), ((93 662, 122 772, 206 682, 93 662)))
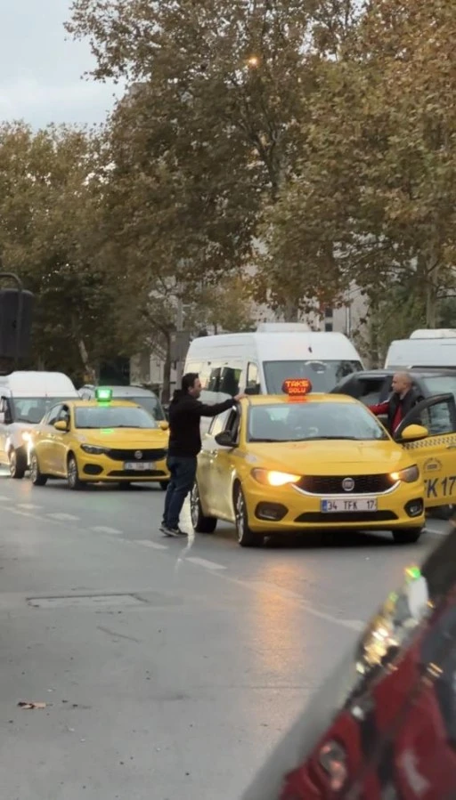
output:
POLYGON ((201 449, 201 416, 217 416, 233 405, 231 398, 209 406, 195 400, 190 394, 175 392, 169 405, 168 456, 198 456, 201 449))

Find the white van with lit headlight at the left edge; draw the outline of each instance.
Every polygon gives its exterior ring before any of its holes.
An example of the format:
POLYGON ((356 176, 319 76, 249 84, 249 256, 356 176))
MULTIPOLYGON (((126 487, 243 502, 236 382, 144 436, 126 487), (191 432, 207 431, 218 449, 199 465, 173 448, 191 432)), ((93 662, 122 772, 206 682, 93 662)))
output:
POLYGON ((59 400, 77 400, 76 387, 61 372, 18 371, 0 381, 0 465, 12 478, 28 469, 30 433, 59 400))

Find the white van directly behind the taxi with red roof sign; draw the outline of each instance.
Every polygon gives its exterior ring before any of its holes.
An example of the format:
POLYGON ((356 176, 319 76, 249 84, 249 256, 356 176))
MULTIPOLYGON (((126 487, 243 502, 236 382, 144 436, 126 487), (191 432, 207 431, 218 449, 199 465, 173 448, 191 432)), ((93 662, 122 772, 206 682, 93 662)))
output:
POLYGON ((185 360, 185 372, 199 374, 205 402, 238 392, 281 394, 284 380, 296 377, 310 378, 315 392, 330 392, 360 369, 360 355, 345 335, 280 324, 193 339, 185 360))

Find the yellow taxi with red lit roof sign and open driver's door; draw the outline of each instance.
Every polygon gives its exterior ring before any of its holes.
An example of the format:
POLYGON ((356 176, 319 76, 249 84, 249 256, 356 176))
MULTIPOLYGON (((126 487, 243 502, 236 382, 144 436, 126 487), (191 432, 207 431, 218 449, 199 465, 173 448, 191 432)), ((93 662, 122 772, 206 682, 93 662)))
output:
POLYGON ((426 508, 453 502, 452 395, 419 403, 393 440, 358 400, 311 390, 285 381, 283 395, 248 397, 212 421, 191 493, 194 529, 233 522, 243 546, 305 529, 387 529, 416 542, 426 508))

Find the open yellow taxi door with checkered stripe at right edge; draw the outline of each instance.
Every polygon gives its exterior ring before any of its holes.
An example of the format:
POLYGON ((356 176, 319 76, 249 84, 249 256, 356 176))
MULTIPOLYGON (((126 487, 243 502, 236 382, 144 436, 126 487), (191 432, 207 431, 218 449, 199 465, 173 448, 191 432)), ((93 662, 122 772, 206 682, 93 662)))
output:
POLYGON ((452 394, 422 400, 404 417, 395 434, 410 424, 428 429, 426 439, 402 442, 423 475, 427 508, 452 505, 456 497, 456 403, 452 394))

